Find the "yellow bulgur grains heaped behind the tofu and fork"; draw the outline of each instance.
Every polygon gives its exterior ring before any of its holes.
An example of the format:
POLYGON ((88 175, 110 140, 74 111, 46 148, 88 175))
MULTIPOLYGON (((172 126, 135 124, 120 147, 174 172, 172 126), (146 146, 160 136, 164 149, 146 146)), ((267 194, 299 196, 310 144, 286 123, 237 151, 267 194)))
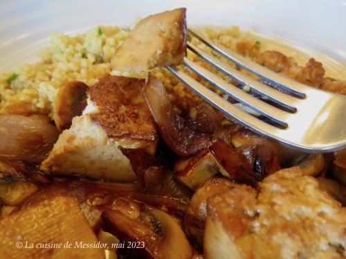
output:
MULTIPOLYGON (((198 31, 203 37, 247 57, 265 48, 265 43, 259 42, 250 32, 241 32, 237 26, 200 28, 198 31)), ((54 32, 48 48, 39 52, 40 61, 0 75, 0 113, 52 115, 57 90, 66 82, 77 80, 91 86, 104 73, 111 73, 111 58, 128 33, 128 29, 110 26, 100 26, 75 36, 54 32), (8 84, 6 80, 12 73, 19 76, 8 84)), ((196 39, 192 39, 192 43, 201 45, 196 39)), ((188 52, 188 56, 208 66, 192 52, 188 52)), ((156 68, 154 73, 165 84, 177 111, 188 111, 199 102, 199 97, 167 70, 156 68)))

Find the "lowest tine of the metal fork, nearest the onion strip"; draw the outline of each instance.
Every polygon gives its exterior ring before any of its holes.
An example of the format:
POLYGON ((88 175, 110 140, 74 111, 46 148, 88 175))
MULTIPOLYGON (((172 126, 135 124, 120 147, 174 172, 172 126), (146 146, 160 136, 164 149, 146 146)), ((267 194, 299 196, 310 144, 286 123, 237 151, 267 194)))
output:
POLYGON ((246 126, 253 128, 254 131, 257 131, 257 133, 261 133, 264 135, 268 135, 268 132, 280 130, 279 128, 276 128, 275 126, 272 126, 270 124, 266 124, 266 122, 262 122, 260 119, 257 119, 257 117, 254 117, 253 115, 237 108, 230 102, 226 101, 226 99, 220 97, 206 86, 203 86, 203 84, 199 83, 175 66, 166 66, 166 68, 183 84, 193 90, 194 93, 197 93, 200 97, 205 99, 206 102, 208 102, 212 106, 215 106, 217 109, 221 110, 225 115, 231 117, 236 122, 245 124, 246 126))

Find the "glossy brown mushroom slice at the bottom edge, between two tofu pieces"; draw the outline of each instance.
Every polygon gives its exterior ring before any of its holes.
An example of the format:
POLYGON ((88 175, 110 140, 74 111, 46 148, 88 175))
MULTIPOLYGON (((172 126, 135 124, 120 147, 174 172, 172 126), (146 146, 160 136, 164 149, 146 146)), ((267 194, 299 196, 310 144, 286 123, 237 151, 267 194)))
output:
POLYGON ((149 258, 192 257, 183 229, 170 215, 157 209, 132 206, 122 213, 115 207, 102 213, 102 229, 120 240, 138 242, 149 258))

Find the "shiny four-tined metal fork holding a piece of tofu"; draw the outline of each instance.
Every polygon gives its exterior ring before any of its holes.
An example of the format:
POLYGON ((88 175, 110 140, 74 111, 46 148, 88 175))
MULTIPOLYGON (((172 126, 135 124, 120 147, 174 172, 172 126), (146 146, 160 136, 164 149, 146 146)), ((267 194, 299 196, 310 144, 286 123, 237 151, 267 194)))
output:
POLYGON ((268 123, 268 120, 262 120, 252 113, 231 104, 206 86, 203 86, 199 81, 184 73, 183 70, 175 66, 166 67, 183 84, 191 88, 212 106, 221 110, 227 117, 240 124, 244 124, 257 133, 272 137, 286 146, 291 146, 301 151, 318 153, 346 148, 345 96, 327 93, 323 90, 300 84, 293 79, 268 70, 264 66, 260 66, 241 55, 237 55, 237 53, 219 46, 215 42, 203 39, 190 29, 189 34, 199 39, 201 43, 214 52, 257 75, 265 82, 265 84, 262 84, 262 82, 241 73, 210 52, 188 43, 188 49, 201 59, 243 86, 250 86, 251 90, 261 95, 263 99, 253 97, 187 57, 181 61, 183 66, 219 88, 226 95, 233 97, 233 99, 248 106, 251 110, 265 116, 270 121, 268 123), (271 86, 281 90, 275 90, 271 86), (268 99, 277 105, 273 106, 271 102, 264 102, 264 99, 268 99))

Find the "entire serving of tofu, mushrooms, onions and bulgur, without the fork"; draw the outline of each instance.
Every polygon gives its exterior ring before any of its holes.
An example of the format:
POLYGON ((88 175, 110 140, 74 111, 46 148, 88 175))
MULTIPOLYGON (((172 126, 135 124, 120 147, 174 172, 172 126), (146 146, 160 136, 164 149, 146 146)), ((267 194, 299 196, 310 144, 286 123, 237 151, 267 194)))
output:
MULTIPOLYGON (((41 61, 0 75, 1 255, 346 256, 345 150, 286 148, 170 75, 162 66, 186 55, 262 98, 186 52, 187 41, 201 44, 187 39, 185 12, 152 15, 131 31, 54 33, 41 61), (15 249, 28 240, 98 247, 15 249)), ((296 50, 237 27, 196 30, 276 73, 345 94, 333 70, 296 50)))

